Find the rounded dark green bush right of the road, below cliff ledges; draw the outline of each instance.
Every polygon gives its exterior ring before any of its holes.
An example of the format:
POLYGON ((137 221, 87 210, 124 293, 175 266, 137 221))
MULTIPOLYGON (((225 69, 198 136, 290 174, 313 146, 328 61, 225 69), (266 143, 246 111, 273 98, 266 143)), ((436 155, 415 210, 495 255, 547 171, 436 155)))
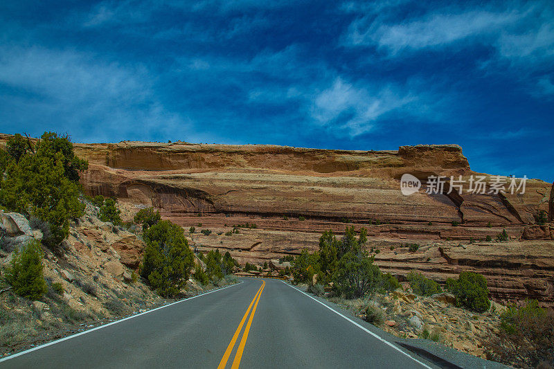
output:
POLYGON ((456 296, 456 305, 474 312, 486 312, 490 307, 487 281, 479 273, 463 271, 458 280, 448 278, 446 288, 456 296))

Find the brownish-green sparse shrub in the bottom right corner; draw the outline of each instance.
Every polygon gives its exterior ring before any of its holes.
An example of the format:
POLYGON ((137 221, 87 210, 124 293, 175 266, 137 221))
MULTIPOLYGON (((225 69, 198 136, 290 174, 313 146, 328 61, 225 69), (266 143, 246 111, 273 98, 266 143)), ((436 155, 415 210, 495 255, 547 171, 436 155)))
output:
POLYGON ((554 312, 531 300, 500 315, 500 332, 492 338, 491 359, 521 368, 554 366, 554 312))

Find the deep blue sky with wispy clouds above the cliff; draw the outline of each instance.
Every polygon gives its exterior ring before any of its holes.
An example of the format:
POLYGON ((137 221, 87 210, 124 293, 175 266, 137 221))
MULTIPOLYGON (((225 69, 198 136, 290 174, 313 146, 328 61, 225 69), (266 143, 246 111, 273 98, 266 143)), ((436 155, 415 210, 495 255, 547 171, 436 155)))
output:
POLYGON ((554 181, 552 1, 0 2, 0 132, 457 143, 554 181))

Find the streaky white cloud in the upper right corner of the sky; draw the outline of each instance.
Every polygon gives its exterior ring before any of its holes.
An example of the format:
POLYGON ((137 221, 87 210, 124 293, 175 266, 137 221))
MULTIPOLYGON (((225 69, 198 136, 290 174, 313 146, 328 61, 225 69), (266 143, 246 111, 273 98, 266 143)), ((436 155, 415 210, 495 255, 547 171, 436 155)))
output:
POLYGON ((550 89, 541 88, 544 82, 539 81, 544 81, 554 64, 551 3, 497 3, 497 8, 492 5, 429 9, 409 19, 402 19, 391 1, 379 3, 377 8, 358 7, 362 15, 352 21, 342 43, 347 47, 375 46, 392 58, 447 46, 488 46, 494 53, 489 60, 479 62, 484 73, 510 73, 532 95, 537 96, 537 87, 548 93, 550 89))

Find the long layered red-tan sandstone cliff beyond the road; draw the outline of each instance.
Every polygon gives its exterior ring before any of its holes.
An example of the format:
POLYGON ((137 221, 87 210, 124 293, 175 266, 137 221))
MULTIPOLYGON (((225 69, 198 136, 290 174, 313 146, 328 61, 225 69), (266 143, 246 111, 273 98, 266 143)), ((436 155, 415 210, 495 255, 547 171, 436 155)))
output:
POLYGON ((117 197, 123 208, 154 206, 186 230, 195 226, 190 241, 197 249, 229 251, 241 264, 315 250, 323 231, 363 226, 368 249, 379 250, 376 264, 400 280, 412 269, 438 282, 476 271, 494 300, 537 298, 554 306, 554 226, 535 221, 540 210, 552 220, 552 185, 530 179, 523 195, 481 195, 460 193, 447 181, 441 193, 425 193, 429 175, 481 175, 457 145, 344 151, 123 141, 74 147, 89 161, 81 176, 88 195, 117 197), (419 192, 402 195, 404 173, 423 181, 419 192), (233 233, 235 225, 245 227, 233 233), (504 229, 508 242, 497 242, 504 229), (413 243, 417 251, 409 251, 413 243))

